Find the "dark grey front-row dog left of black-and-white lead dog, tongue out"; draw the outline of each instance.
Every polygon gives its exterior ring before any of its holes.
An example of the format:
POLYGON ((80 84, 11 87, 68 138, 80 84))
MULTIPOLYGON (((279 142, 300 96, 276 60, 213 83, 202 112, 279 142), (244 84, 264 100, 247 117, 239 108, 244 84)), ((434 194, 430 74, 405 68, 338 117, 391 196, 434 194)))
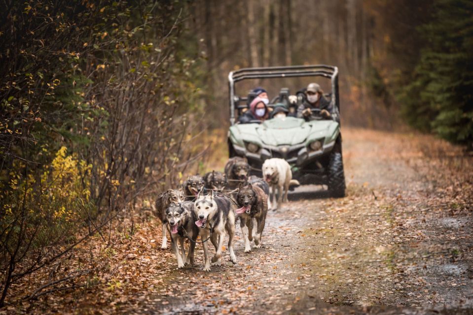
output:
POLYGON ((178 204, 169 205, 166 210, 166 221, 171 230, 171 244, 174 254, 178 259, 178 269, 184 267, 185 264, 194 264, 194 250, 197 236, 199 235, 199 228, 195 226, 197 218, 194 213, 194 203, 192 201, 184 201, 178 204), (184 241, 188 238, 189 252, 187 258, 185 257, 184 241), (179 252, 178 242, 181 245, 181 252, 179 252), (183 261, 185 258, 185 261, 183 261))

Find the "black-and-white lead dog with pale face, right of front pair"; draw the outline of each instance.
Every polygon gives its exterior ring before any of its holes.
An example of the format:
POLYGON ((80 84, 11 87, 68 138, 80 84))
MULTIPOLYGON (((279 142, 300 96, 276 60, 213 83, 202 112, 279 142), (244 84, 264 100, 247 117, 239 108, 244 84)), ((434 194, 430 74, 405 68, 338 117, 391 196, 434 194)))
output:
POLYGON ((205 265, 204 271, 210 271, 209 242, 215 247, 215 255, 212 257, 213 265, 220 265, 223 241, 228 234, 228 251, 230 261, 236 264, 235 252, 233 252, 233 237, 235 236, 235 214, 230 198, 227 196, 214 195, 211 190, 209 194, 203 195, 199 192, 194 202, 194 212, 197 217, 195 225, 200 229, 200 238, 204 248, 205 265), (225 233, 226 231, 226 233, 225 233))

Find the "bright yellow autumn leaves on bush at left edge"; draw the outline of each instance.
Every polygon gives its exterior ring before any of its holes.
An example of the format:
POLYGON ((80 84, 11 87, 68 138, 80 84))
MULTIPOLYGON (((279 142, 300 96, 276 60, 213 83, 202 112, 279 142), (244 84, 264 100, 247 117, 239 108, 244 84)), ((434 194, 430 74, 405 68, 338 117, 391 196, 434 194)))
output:
MULTIPOLYGON (((13 169, 27 169, 21 161, 15 163, 13 169)), ((21 172, 10 174, 9 187, 1 192, 4 216, 0 227, 24 216, 26 211, 28 221, 39 226, 39 236, 73 232, 87 218, 87 213, 93 212, 88 174, 91 167, 76 155, 68 155, 67 148, 61 147, 41 172, 29 172, 26 176, 21 172)))

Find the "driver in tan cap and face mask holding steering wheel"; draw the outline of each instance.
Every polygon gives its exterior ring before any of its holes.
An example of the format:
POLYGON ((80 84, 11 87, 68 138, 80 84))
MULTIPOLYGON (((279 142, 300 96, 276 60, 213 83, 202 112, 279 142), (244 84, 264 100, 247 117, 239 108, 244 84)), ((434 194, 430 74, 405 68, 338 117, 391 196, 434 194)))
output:
POLYGON ((332 104, 324 97, 324 91, 317 83, 311 83, 307 86, 306 101, 297 108, 297 117, 304 118, 306 121, 315 119, 316 116, 323 119, 331 119, 332 104), (314 111, 314 109, 320 109, 314 111))

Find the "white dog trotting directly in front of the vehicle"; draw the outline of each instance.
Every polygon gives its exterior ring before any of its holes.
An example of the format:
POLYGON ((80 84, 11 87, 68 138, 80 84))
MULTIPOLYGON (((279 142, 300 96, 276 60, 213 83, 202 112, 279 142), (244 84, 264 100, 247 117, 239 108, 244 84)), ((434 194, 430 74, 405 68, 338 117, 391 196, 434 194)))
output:
POLYGON ((271 204, 272 210, 281 209, 281 203, 283 201, 288 201, 289 186, 291 184, 299 184, 299 182, 296 180, 292 180, 291 165, 289 165, 285 159, 270 158, 264 161, 262 172, 263 179, 268 183, 269 188, 271 189, 269 193, 268 204, 271 204), (277 203, 276 188, 278 189, 277 203))

